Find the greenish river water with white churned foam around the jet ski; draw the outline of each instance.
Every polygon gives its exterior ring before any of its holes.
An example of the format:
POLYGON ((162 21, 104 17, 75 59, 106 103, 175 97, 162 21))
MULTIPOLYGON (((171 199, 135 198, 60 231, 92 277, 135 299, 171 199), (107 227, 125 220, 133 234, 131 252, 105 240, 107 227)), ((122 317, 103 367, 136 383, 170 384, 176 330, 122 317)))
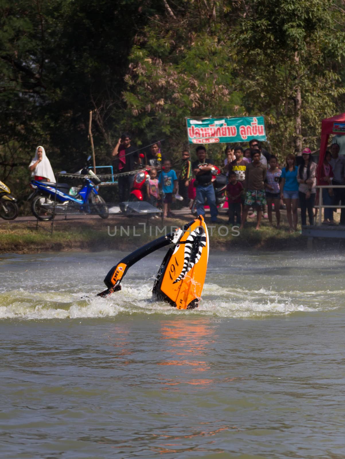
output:
POLYGON ((193 311, 163 254, 0 256, 1 458, 344 458, 345 254, 213 253, 193 311))

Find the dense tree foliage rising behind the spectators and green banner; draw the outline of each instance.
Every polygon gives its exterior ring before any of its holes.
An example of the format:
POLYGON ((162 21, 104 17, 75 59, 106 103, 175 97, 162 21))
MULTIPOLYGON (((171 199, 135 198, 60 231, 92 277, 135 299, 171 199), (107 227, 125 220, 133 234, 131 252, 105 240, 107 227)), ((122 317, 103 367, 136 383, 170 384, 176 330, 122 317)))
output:
POLYGON ((344 41, 344 0, 0 0, 0 179, 25 194, 37 145, 79 166, 90 110, 99 164, 124 130, 177 154, 186 116, 264 114, 274 152, 317 148, 344 41))

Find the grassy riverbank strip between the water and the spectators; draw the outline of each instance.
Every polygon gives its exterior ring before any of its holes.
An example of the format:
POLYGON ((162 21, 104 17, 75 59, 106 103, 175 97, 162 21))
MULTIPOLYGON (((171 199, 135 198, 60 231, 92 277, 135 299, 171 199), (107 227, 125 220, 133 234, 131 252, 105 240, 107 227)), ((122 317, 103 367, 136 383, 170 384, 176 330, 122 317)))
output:
MULTIPOLYGON (((54 231, 50 234, 51 223, 41 222, 36 229, 34 222, 4 222, 0 225, 0 253, 34 253, 60 251, 102 251, 123 250, 130 252, 137 247, 169 233, 175 226, 182 226, 189 221, 188 216, 168 218, 162 224, 160 219, 150 220, 150 223, 136 218, 78 219, 56 220, 54 231)), ((306 238, 299 232, 288 233, 287 226, 275 229, 262 224, 262 229, 255 230, 255 223, 249 222, 245 229, 239 232, 232 230, 221 218, 223 223, 208 224, 210 249, 229 250, 303 250, 306 248, 306 238)), ((207 221, 207 219, 206 219, 207 221)), ((317 242, 322 248, 324 241, 317 242)), ((327 246, 334 244, 327 241, 327 246)), ((339 246, 339 241, 337 242, 339 246)))

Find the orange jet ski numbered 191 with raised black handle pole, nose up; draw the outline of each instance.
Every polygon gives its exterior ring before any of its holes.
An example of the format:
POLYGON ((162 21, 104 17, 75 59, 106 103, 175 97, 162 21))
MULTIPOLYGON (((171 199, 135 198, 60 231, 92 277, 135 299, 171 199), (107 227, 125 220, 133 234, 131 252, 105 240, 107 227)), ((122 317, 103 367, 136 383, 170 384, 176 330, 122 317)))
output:
POLYGON ((128 268, 168 245, 169 250, 153 285, 153 298, 166 301, 178 309, 197 308, 205 282, 209 252, 208 232, 202 216, 185 224, 183 229, 178 228, 173 233, 161 236, 122 258, 106 275, 104 283, 108 288, 97 296, 107 297, 121 290, 120 282, 128 268))

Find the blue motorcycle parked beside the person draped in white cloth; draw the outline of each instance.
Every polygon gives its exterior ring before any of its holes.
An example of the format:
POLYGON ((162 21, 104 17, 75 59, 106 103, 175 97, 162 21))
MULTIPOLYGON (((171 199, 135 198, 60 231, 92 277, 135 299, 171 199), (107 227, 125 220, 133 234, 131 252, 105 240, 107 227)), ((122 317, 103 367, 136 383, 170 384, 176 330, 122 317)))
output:
POLYGON ((101 218, 109 217, 106 202, 96 188, 101 183, 100 179, 88 168, 76 174, 80 174, 82 180, 82 186, 77 189, 71 189, 67 183, 31 181, 30 188, 34 191, 28 199, 33 198, 31 210, 36 218, 47 221, 54 217, 54 213, 76 212, 98 213, 101 218))

